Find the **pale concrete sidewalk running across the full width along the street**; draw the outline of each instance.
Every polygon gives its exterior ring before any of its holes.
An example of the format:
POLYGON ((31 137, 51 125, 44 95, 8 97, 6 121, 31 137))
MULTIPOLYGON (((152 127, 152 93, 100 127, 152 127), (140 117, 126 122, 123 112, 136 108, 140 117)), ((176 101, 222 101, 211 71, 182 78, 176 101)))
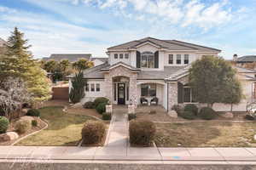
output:
POLYGON ((256 148, 0 146, 0 159, 87 161, 256 161, 256 148))

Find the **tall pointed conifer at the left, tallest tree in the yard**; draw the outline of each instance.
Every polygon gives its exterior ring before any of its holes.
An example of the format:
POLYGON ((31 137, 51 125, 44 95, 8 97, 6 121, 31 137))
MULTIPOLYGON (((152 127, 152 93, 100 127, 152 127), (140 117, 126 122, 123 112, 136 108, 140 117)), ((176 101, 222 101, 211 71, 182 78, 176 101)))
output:
POLYGON ((32 101, 43 101, 50 98, 49 82, 46 72, 32 59, 32 53, 28 51, 31 46, 26 45, 27 42, 24 34, 15 27, 8 39, 6 54, 0 61, 1 81, 8 77, 21 78, 32 94, 32 101))

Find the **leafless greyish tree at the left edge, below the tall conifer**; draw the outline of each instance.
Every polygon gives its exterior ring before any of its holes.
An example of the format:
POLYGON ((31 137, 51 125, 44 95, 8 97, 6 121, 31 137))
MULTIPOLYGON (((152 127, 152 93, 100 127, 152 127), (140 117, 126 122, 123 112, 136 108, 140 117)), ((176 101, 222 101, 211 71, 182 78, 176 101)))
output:
POLYGON ((29 102, 31 95, 20 78, 8 77, 0 86, 0 112, 12 118, 12 114, 20 110, 22 104, 29 102))

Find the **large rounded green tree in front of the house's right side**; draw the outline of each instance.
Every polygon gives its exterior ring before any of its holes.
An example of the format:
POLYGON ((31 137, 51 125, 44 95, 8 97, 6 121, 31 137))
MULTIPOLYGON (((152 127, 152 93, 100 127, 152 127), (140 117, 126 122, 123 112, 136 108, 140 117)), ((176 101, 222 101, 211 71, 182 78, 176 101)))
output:
POLYGON ((239 103, 241 100, 236 70, 219 57, 204 56, 196 60, 189 70, 189 85, 194 89, 198 102, 208 106, 239 103))

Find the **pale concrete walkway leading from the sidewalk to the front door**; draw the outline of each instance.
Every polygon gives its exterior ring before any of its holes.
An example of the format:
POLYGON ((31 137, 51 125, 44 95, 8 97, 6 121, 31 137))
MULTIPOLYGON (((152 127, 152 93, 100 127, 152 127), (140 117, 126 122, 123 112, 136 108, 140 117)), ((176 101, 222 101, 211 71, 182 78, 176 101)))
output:
POLYGON ((127 108, 113 110, 112 121, 110 122, 105 142, 106 147, 119 147, 126 150, 129 135, 129 122, 126 113, 127 108))

